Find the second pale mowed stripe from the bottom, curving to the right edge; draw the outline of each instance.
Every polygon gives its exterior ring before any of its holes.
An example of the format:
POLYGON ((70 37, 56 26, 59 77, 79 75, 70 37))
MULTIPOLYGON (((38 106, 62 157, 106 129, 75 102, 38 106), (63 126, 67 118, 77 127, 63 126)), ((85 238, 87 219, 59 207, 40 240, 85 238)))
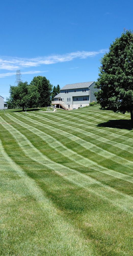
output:
MULTIPOLYGON (((2 120, 2 118, 0 118, 0 120, 2 120)), ((33 159, 33 161, 47 166, 49 169, 54 170, 55 173, 60 174, 64 179, 69 180, 71 183, 84 188, 90 193, 94 193, 98 197, 101 197, 103 200, 108 201, 116 207, 120 207, 132 214, 133 199, 131 196, 120 193, 110 186, 103 185, 94 178, 82 174, 74 169, 51 161, 48 157, 37 150, 37 148, 35 148, 33 144, 13 126, 10 124, 5 124, 3 126, 16 139, 16 142, 22 148, 24 153, 28 155, 29 158, 33 159)))

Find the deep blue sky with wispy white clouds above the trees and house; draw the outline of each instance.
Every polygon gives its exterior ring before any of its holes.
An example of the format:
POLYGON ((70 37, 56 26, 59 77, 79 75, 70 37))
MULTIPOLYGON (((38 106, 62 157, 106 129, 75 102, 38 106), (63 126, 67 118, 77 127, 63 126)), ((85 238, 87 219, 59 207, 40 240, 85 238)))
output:
POLYGON ((133 1, 2 1, 0 95, 22 80, 46 76, 63 87, 96 81, 99 59, 123 29, 133 29, 133 1))

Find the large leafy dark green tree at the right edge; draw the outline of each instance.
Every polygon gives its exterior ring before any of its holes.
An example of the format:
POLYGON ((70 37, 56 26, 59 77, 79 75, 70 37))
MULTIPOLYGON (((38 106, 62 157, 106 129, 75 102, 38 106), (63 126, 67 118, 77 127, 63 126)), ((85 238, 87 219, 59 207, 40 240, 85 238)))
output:
POLYGON ((124 31, 101 59, 95 92, 102 108, 130 112, 133 125, 133 33, 124 31))

